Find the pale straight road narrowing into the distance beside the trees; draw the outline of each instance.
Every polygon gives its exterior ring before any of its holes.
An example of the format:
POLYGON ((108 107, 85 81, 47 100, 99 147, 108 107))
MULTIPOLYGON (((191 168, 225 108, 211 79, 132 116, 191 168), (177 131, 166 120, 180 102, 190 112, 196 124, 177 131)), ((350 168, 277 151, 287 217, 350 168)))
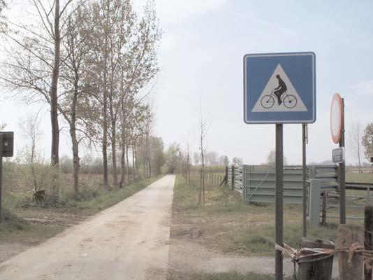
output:
POLYGON ((0 265, 0 279, 166 279, 175 176, 0 265))

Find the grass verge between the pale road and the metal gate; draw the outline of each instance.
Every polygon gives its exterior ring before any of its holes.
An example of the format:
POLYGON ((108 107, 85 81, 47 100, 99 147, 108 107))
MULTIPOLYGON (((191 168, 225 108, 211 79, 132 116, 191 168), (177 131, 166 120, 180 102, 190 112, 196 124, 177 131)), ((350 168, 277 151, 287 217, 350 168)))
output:
MULTIPOLYGON (((275 248, 274 204, 247 204, 226 187, 206 186, 205 205, 198 205, 198 180, 186 190, 184 179, 177 176, 173 202, 175 224, 199 228, 196 242, 223 253, 273 255, 275 248)), ((337 237, 337 225, 308 229, 310 239, 337 237)), ((299 248, 302 239, 302 206, 284 205, 284 242, 299 248)), ((219 278, 218 278, 219 279, 219 278)))

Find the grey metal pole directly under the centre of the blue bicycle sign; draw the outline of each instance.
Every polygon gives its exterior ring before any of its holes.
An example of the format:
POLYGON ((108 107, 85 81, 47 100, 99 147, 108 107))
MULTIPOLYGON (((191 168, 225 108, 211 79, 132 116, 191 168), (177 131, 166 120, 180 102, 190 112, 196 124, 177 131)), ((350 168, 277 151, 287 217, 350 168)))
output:
MULTIPOLYGON (((276 124, 276 205, 275 205, 275 232, 276 244, 284 246, 284 145, 283 125, 276 124)), ((283 280, 283 262, 281 251, 275 251, 275 280, 283 280)))

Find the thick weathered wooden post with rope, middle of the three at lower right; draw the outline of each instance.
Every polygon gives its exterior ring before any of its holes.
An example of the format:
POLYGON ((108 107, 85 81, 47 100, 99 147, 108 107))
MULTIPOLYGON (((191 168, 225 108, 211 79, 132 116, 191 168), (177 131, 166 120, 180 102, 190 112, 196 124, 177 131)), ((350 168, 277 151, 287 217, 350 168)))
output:
MULTIPOLYGON (((359 225, 339 225, 337 248, 350 248, 354 243, 361 246, 363 242, 363 227, 359 225)), ((339 253, 339 280, 363 280, 363 255, 353 254, 351 265, 349 265, 348 260, 348 252, 339 253)))

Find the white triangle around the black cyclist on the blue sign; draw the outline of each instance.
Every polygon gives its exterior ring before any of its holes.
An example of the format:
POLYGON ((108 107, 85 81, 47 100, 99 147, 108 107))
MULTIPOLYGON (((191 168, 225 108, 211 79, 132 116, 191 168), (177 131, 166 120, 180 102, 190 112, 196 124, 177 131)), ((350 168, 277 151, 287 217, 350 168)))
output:
POLYGON ((291 80, 286 75, 284 69, 281 67, 280 64, 277 64, 277 67, 275 71, 273 71, 272 76, 268 80, 267 85, 265 85, 263 92, 259 96, 258 100, 256 101, 256 104, 254 108, 251 110, 252 112, 307 112, 307 108, 305 104, 302 102, 302 99, 300 98, 298 92, 295 90, 293 84, 291 83, 291 80), (284 80, 284 83, 287 87, 287 93, 293 95, 297 99, 297 104, 294 108, 287 108, 284 106, 284 104, 278 105, 277 104, 277 97, 275 97, 275 94, 272 94, 272 97, 275 99, 275 104, 270 109, 266 109, 261 105, 261 99, 265 95, 270 95, 272 90, 275 89, 278 86, 278 80, 276 78, 276 75, 279 74, 281 76, 281 79, 284 80))

